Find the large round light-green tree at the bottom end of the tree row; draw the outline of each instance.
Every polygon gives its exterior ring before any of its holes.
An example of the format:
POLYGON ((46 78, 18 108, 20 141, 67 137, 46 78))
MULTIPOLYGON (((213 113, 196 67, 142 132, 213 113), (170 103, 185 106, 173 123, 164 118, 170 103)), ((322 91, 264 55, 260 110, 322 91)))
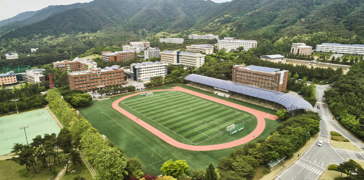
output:
POLYGON ((103 180, 119 180, 123 179, 124 175, 127 175, 126 158, 116 148, 107 148, 100 151, 95 159, 95 167, 97 168, 97 174, 95 179, 103 180))

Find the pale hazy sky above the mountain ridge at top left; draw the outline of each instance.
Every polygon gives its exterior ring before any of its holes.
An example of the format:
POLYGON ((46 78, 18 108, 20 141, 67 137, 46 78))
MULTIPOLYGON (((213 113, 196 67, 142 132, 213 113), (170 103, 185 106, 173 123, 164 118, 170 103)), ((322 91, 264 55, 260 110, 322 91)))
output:
MULTIPOLYGON (((0 21, 12 18, 19 13, 41 10, 51 5, 71 5, 75 3, 88 3, 92 1, 93 0, 0 0, 0 21)), ((232 0, 211 1, 215 3, 223 3, 232 0)))

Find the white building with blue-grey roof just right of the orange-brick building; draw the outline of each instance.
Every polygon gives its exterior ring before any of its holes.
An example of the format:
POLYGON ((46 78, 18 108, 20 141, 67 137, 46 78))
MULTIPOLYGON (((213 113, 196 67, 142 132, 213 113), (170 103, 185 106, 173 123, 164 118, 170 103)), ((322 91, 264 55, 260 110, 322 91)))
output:
POLYGON ((125 75, 131 80, 145 81, 150 80, 151 77, 167 75, 168 63, 162 62, 143 62, 133 63, 130 69, 124 69, 125 75))

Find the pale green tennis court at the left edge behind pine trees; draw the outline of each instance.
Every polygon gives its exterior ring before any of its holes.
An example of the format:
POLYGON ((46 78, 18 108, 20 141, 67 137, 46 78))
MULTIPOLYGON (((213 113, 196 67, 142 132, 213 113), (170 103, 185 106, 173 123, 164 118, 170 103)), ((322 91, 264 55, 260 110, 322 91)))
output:
POLYGON ((26 144, 37 135, 59 133, 60 127, 47 109, 0 117, 0 155, 9 154, 15 143, 26 144), (24 132, 25 130, 25 132, 24 132))

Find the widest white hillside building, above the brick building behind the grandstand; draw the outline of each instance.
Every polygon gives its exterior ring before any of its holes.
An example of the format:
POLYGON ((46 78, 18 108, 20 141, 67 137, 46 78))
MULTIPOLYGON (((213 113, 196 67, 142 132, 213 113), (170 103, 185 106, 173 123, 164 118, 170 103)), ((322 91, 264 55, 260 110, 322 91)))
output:
POLYGON ((244 47, 244 51, 248 51, 250 48, 256 48, 257 43, 256 40, 242 40, 225 37, 224 39, 217 41, 217 49, 236 51, 239 47, 244 47))

